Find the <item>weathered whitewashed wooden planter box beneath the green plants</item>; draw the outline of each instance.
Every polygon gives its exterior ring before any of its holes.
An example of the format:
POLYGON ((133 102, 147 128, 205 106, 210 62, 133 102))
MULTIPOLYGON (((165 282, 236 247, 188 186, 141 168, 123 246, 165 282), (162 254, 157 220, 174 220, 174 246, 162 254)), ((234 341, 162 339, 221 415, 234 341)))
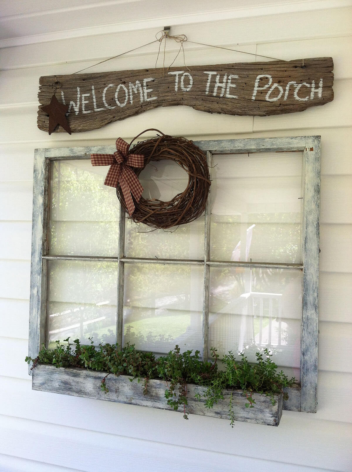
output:
MULTIPOLYGON (((127 403, 130 405, 149 406, 163 410, 172 410, 167 405, 164 396, 167 388, 163 380, 149 380, 148 394, 143 395, 143 383, 130 379, 129 376, 115 377, 113 374, 106 379, 106 386, 109 392, 102 392, 100 389, 101 379, 104 372, 87 371, 85 369, 63 369, 52 365, 40 364, 33 370, 33 390, 61 393, 65 395, 83 396, 107 400, 110 402, 127 403)), ((188 405, 186 412, 211 416, 213 418, 229 419, 229 400, 231 390, 224 391, 224 400, 219 401, 212 409, 205 407, 205 401, 195 400, 194 396, 199 393, 201 396, 205 392, 204 387, 188 385, 188 405)), ((278 426, 282 415, 282 395, 276 396, 276 405, 272 405, 269 397, 260 394, 253 394, 256 402, 254 408, 246 408, 246 398, 241 390, 232 391, 232 406, 236 421, 246 421, 250 423, 278 426)), ((182 408, 178 410, 183 413, 182 408)))

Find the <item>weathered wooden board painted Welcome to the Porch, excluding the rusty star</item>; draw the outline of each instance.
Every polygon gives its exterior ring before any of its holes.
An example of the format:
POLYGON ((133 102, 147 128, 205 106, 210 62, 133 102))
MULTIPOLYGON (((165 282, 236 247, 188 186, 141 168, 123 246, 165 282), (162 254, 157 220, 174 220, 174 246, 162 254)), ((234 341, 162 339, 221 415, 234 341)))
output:
MULTIPOLYGON (((278 115, 332 101, 333 67, 332 58, 316 58, 43 76, 38 98, 47 105, 50 85, 60 82, 57 98, 68 106, 72 132, 173 105, 228 115, 278 115)), ((38 127, 49 130, 41 106, 38 127)), ((57 126, 55 131, 65 130, 57 126)))

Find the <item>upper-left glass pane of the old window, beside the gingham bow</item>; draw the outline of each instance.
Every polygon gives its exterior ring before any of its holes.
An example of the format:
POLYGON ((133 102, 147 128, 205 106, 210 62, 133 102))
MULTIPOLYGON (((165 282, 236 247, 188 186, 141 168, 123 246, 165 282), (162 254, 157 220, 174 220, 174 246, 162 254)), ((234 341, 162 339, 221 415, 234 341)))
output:
POLYGON ((120 203, 104 185, 108 169, 90 160, 52 163, 49 254, 118 254, 120 203))

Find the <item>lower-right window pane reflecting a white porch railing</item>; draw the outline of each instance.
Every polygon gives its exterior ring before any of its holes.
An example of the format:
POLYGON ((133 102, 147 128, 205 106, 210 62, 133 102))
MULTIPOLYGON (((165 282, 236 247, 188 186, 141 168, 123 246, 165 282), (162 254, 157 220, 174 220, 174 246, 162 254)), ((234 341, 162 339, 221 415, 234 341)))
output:
POLYGON ((251 362, 266 347, 299 378, 301 303, 301 270, 211 267, 209 346, 251 362))

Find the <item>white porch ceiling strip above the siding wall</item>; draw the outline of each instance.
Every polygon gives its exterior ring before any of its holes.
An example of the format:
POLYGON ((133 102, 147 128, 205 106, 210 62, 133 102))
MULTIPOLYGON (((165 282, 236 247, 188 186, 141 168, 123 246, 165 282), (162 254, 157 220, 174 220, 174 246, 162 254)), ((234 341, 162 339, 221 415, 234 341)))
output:
POLYGON ((0 47, 351 5, 352 0, 0 0, 0 47))

